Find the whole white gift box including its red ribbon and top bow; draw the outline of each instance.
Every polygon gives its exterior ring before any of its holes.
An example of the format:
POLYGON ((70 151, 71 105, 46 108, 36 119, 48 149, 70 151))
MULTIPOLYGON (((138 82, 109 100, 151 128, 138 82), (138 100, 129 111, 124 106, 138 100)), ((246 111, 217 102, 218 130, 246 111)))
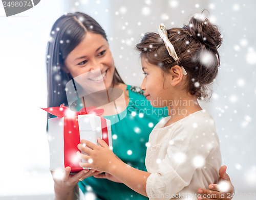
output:
MULTIPOLYGON (((48 120, 50 170, 55 171, 71 167, 71 172, 79 172, 83 168, 76 152, 81 139, 98 144, 97 138, 103 139, 112 147, 111 122, 103 118, 103 109, 86 108, 79 112, 68 107, 52 107, 43 109, 57 117, 48 120)), ((99 144, 98 144, 99 145, 99 144)))

